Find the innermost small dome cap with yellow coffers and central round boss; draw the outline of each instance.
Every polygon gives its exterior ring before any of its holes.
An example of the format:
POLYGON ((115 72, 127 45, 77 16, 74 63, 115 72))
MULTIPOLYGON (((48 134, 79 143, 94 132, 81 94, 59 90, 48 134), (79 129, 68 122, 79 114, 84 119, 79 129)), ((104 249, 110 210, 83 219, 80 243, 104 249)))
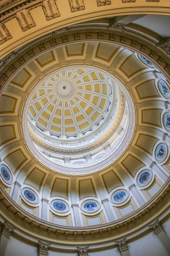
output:
POLYGON ((54 74, 37 88, 28 114, 45 134, 65 139, 82 137, 89 130, 97 133, 99 121, 107 118, 113 106, 111 79, 93 70, 70 69, 54 74))

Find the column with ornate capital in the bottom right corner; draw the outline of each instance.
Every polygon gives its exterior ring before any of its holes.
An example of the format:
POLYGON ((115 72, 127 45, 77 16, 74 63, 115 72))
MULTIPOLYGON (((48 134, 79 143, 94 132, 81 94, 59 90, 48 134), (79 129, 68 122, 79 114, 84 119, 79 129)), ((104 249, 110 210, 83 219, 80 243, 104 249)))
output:
POLYGON ((155 223, 153 223, 149 227, 155 231, 156 235, 159 237, 162 244, 167 249, 167 252, 170 253, 170 239, 164 233, 164 230, 163 230, 161 224, 159 223, 159 219, 157 221, 155 221, 155 223))

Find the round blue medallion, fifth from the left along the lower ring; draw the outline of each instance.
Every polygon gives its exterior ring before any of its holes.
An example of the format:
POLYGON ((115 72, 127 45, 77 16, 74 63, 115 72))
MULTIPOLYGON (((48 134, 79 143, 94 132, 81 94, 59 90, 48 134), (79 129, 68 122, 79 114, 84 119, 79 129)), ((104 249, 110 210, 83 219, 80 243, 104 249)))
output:
POLYGON ((111 195, 111 202, 113 204, 122 204, 127 201, 127 198, 129 197, 129 191, 124 189, 123 187, 119 189, 113 189, 113 193, 111 195))

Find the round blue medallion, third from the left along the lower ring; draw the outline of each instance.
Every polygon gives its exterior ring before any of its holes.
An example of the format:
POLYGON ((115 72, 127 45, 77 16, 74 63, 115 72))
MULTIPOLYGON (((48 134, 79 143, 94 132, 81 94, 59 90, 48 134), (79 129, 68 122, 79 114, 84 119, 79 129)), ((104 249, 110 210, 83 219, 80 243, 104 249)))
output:
POLYGON ((68 203, 59 198, 53 199, 49 204, 51 209, 53 209, 55 212, 65 213, 70 210, 70 206, 68 205, 68 203))

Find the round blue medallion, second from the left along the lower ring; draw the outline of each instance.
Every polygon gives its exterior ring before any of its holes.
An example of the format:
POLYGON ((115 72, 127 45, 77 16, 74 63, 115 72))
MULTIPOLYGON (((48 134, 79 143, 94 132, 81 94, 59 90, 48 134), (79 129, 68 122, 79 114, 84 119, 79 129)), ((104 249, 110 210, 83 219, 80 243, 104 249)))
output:
POLYGON ((27 201, 29 204, 38 204, 40 201, 40 198, 36 190, 25 185, 21 187, 21 195, 23 199, 27 201))

